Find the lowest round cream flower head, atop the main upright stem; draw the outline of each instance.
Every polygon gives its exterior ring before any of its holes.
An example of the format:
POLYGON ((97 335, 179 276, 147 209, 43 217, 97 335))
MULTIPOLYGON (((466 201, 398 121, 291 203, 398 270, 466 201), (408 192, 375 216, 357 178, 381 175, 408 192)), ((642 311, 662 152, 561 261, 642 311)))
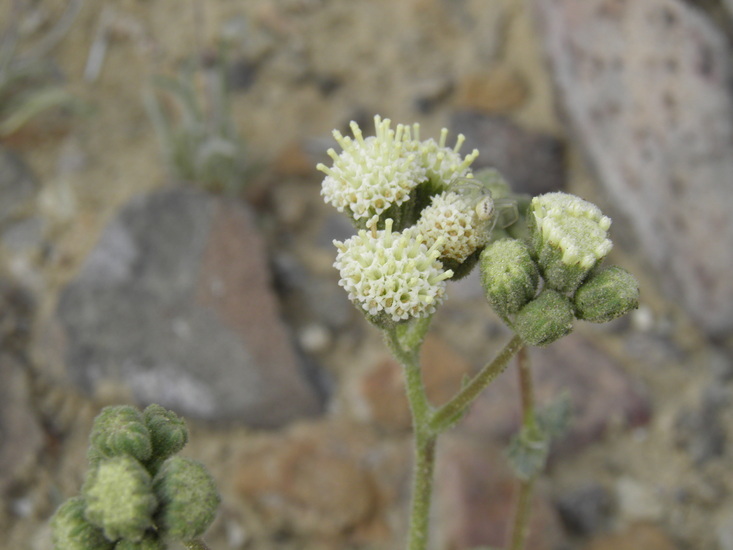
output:
POLYGON ((334 241, 339 252, 334 266, 349 299, 372 316, 386 314, 394 322, 435 312, 453 272, 438 261, 440 242, 426 246, 414 229, 361 230, 345 242, 334 241))

